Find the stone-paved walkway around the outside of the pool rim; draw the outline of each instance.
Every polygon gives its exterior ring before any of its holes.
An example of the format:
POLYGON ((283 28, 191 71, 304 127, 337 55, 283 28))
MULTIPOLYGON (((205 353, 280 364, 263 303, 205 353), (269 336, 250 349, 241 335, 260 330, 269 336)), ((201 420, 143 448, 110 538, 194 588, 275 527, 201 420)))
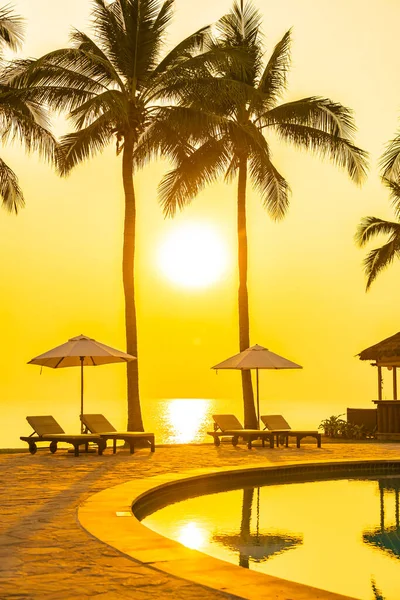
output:
MULTIPOLYGON (((0 454, 1 600, 222 600, 234 598, 168 576, 91 537, 77 521, 91 494, 132 478, 190 468, 277 465, 341 459, 400 459, 400 444, 303 443, 301 449, 169 446, 129 455, 75 458, 64 450, 0 454)), ((235 596, 236 597, 236 596, 235 596)), ((236 597, 237 598, 237 597, 236 597)))

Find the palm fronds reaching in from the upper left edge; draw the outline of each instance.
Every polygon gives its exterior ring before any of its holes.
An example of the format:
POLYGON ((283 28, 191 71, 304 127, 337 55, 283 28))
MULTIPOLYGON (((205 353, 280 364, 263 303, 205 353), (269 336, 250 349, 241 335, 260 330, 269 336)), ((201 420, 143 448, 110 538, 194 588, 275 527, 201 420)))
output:
MULTIPOLYGON (((23 19, 14 14, 9 6, 0 8, 0 135, 2 142, 18 140, 28 151, 37 150, 51 160, 54 157, 55 140, 47 130, 46 112, 27 98, 26 90, 10 86, 4 74, 7 71, 4 50, 16 51, 23 40, 23 19)), ((23 192, 14 171, 0 158, 0 197, 2 206, 10 213, 18 213, 25 204, 23 192)))

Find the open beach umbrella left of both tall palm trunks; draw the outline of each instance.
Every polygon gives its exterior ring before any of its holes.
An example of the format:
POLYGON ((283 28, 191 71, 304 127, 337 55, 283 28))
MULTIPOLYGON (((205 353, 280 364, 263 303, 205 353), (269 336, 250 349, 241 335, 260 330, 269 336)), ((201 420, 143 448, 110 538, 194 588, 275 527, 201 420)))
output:
MULTIPOLYGON (((117 362, 130 362, 136 360, 135 356, 126 354, 121 350, 111 348, 97 342, 86 335, 78 335, 71 338, 65 344, 48 350, 40 356, 32 358, 28 365, 41 365, 60 369, 64 367, 81 368, 81 415, 83 414, 83 367, 96 367, 117 362)), ((83 433, 83 423, 81 422, 81 432, 83 433)))

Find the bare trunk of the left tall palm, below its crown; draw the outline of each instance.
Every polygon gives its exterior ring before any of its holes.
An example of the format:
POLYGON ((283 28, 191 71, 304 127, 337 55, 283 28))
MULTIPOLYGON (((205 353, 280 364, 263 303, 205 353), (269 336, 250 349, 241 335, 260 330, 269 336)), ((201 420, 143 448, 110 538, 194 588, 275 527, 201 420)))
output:
MULTIPOLYGON (((122 156, 122 179, 125 191, 125 222, 122 272, 125 295, 126 351, 133 356, 137 352, 137 326, 135 306, 135 233, 136 203, 133 187, 133 138, 126 136, 122 156)), ((128 382, 128 430, 144 431, 139 399, 139 360, 127 363, 128 382)))

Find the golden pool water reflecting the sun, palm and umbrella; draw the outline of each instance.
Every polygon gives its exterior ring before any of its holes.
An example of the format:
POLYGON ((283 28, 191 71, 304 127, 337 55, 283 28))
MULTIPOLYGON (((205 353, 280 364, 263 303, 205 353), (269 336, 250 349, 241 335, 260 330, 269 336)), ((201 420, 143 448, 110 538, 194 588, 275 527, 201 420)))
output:
POLYGON ((365 600, 400 599, 400 475, 246 487, 146 517, 216 558, 365 600))

